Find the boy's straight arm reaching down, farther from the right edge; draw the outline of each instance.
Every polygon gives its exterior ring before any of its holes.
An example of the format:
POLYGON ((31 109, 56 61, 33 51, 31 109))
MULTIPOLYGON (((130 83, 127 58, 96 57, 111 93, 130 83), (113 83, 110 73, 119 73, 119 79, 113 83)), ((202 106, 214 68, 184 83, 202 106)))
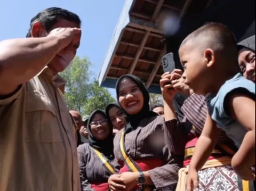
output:
POLYGON ((195 153, 189 164, 189 171, 186 180, 186 190, 193 191, 198 188, 197 172, 203 167, 218 142, 221 130, 207 113, 206 121, 201 136, 198 138, 195 153))

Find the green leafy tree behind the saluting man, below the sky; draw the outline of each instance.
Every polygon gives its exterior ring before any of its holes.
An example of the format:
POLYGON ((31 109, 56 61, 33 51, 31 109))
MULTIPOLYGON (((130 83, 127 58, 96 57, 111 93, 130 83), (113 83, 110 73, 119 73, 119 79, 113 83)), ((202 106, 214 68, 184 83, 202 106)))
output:
POLYGON ((100 87, 98 81, 93 78, 90 71, 92 66, 87 58, 80 59, 78 56, 71 62, 69 67, 60 73, 67 81, 65 87, 65 99, 69 109, 79 111, 81 114, 90 114, 94 109, 103 109, 103 105, 107 105, 114 98, 106 88, 100 87), (102 99, 100 96, 104 95, 102 99), (92 105, 92 96, 95 98, 93 110, 86 109, 87 105, 92 105), (106 101, 106 102, 104 102, 106 101))

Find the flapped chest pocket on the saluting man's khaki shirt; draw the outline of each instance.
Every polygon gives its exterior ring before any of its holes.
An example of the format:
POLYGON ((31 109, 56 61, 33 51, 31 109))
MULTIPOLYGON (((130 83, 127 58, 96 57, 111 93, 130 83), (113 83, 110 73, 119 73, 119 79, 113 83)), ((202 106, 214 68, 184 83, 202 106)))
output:
POLYGON ((58 117, 51 100, 39 92, 27 92, 25 105, 27 142, 62 142, 58 117))

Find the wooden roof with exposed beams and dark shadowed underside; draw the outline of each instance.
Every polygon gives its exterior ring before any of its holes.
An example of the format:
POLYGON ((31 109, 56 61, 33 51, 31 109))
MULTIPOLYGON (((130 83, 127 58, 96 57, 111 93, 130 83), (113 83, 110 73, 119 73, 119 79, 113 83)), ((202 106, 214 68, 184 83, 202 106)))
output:
MULTIPOLYGON (((241 19, 247 20, 234 30, 235 36, 242 39, 255 34, 254 0, 126 0, 98 75, 100 85, 115 88, 119 77, 133 74, 145 82, 149 92, 159 93, 162 56, 166 52, 177 53, 182 39, 206 21, 223 22, 232 28, 237 20, 230 21, 236 19, 236 8, 241 10, 239 3, 246 4, 242 6, 245 15, 241 19), (214 15, 221 9, 224 16, 218 20, 214 15), (162 11, 178 15, 181 26, 177 35, 169 37, 161 30, 162 11)), ((175 61, 179 63, 177 54, 175 61)))

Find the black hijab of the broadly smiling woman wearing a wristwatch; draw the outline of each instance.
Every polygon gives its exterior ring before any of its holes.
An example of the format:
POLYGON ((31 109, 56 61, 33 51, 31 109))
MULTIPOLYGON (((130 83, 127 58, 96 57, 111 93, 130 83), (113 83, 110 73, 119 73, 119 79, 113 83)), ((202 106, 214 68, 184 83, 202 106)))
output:
POLYGON ((150 107, 149 107, 150 97, 149 97, 149 93, 148 93, 146 86, 143 84, 143 82, 138 77, 130 75, 130 74, 125 74, 117 80, 116 95, 117 95, 118 103, 119 103, 119 85, 125 78, 128 78, 128 79, 132 80, 133 82, 135 82, 135 84, 141 90, 143 98, 144 98, 143 107, 142 107, 141 111, 137 114, 129 114, 122 108, 122 106, 120 106, 121 110, 124 112, 125 117, 128 121, 128 123, 125 126, 125 133, 128 133, 128 132, 131 132, 131 131, 137 129, 140 124, 140 121, 142 119, 152 117, 152 116, 157 116, 157 113, 150 111, 150 107))

